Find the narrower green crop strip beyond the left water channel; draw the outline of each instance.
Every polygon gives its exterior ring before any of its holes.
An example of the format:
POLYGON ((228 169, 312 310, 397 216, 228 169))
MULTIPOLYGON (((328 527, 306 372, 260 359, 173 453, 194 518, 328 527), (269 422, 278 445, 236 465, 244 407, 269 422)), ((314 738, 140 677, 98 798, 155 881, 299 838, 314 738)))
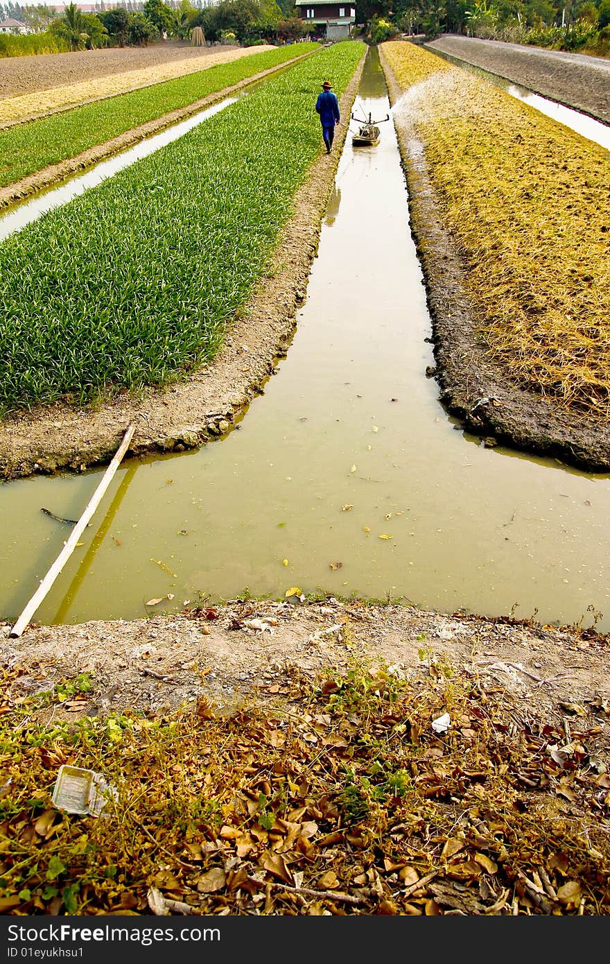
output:
POLYGON ((187 107, 201 97, 222 91, 260 70, 283 64, 317 46, 316 43, 303 43, 298 48, 278 47, 0 131, 0 187, 68 157, 75 157, 147 120, 156 120, 180 107, 187 107))

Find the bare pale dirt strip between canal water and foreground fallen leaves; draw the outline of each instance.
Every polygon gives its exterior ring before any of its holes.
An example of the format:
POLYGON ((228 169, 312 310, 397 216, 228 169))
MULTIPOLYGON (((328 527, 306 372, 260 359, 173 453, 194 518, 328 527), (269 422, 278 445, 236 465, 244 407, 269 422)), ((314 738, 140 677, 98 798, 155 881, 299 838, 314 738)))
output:
MULTIPOLYGON (((561 718, 562 703, 584 713, 610 702, 607 636, 405 605, 232 601, 129 622, 29 628, 19 639, 8 638, 10 629, 0 624, 3 661, 24 668, 25 691, 92 675, 83 715, 160 713, 201 693, 231 712, 256 700, 281 701, 291 668, 314 678, 385 661, 409 676, 433 659, 495 681, 549 719, 561 718)), ((605 732, 608 743, 607 717, 605 732)))

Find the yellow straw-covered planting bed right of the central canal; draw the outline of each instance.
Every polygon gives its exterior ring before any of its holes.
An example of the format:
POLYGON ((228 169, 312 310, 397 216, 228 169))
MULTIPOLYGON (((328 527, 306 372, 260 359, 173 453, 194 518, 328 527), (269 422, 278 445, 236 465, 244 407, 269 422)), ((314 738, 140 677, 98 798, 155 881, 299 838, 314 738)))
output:
POLYGON ((517 385, 607 417, 608 152, 414 44, 384 50, 491 356, 517 385))

